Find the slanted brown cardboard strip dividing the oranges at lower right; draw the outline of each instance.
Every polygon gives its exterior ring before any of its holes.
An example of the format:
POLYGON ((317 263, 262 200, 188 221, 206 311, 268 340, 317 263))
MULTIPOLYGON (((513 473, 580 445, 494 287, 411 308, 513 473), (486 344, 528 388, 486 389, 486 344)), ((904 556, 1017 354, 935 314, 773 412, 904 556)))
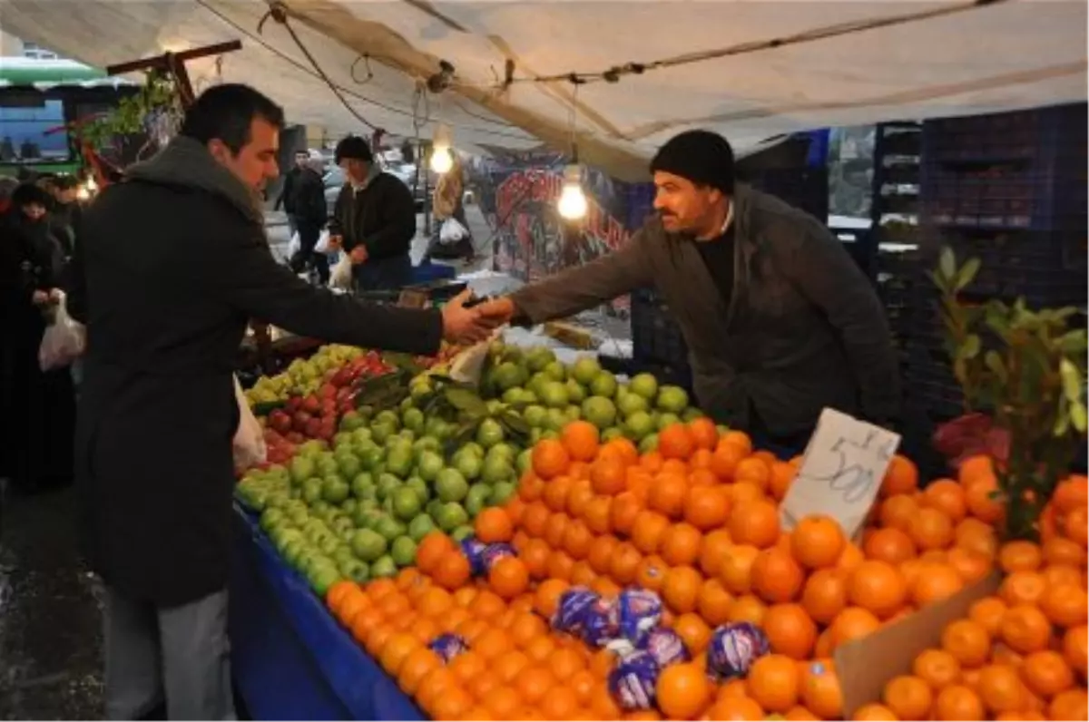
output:
POLYGON ((949 599, 836 648, 832 659, 843 690, 843 719, 849 720, 864 705, 880 701, 890 680, 910 674, 919 652, 939 647, 942 631, 951 622, 966 617, 976 601, 995 593, 1001 582, 1002 577, 994 573, 949 599))

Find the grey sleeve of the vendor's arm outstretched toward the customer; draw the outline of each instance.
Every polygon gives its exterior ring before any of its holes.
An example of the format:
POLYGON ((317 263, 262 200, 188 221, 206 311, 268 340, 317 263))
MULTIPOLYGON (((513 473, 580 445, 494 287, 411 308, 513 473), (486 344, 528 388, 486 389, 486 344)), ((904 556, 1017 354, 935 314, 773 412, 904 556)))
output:
POLYGON ((600 306, 616 296, 650 285, 653 276, 640 230, 621 248, 511 295, 519 322, 542 323, 600 306))

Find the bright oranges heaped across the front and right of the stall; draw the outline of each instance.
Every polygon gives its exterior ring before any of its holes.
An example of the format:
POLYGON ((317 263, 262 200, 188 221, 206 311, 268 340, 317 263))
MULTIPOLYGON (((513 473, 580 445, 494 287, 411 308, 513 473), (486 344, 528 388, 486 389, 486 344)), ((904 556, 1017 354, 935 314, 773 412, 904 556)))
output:
MULTIPOLYGON (((828 517, 804 518, 791 531, 782 528, 779 503, 799 463, 754 451, 745 433, 720 435, 708 419, 663 429, 658 450, 643 455, 629 441, 602 442, 592 425, 576 421, 564 428, 560 439, 534 448, 533 468, 521 479, 516 497, 477 517, 477 538, 510 542, 516 558, 501 560, 475 579, 460 547, 435 534, 419 546, 417 570, 403 573, 396 584, 376 582, 358 595, 344 592, 348 599, 367 601, 330 605, 407 690, 417 687, 423 668, 428 673, 425 682, 435 676, 453 685, 450 688, 456 692, 451 695, 428 694, 442 686, 440 682, 424 686, 423 694, 414 693, 438 719, 502 719, 517 711, 515 719, 524 720, 747 722, 773 713, 791 721, 837 720, 843 698, 831 657, 839 645, 945 599, 1001 567, 1008 574, 1003 591, 980 605, 1001 603, 1012 609, 1035 599, 1043 619, 1050 620, 1051 626, 1044 625, 1051 629, 1048 645, 1024 647, 1017 653, 1028 661, 1032 653, 1054 652, 1044 661, 1054 662, 1059 654, 1078 685, 1085 685, 1089 632, 1081 629, 1089 624, 1089 603, 1084 604, 1085 614, 1074 615, 1067 607, 1082 602, 1064 605, 1055 599, 1059 592, 1039 589, 1061 578, 1064 598, 1075 587, 1079 592, 1075 597, 1085 598, 1089 479, 1072 479, 1060 489, 1041 519, 1044 541, 1033 554, 1019 542, 1000 543, 996 524, 1004 506, 987 458, 969 460, 957 479, 940 479, 920 489, 915 465, 894 457, 858 543, 828 517), (548 628, 556 600, 572 585, 604 597, 628 586, 661 596, 668 609, 663 623, 696 659, 660 676, 658 711, 622 717, 605 687, 611 653, 588 649, 548 628), (1063 613, 1072 616, 1062 619, 1076 624, 1055 626, 1053 614, 1063 613), (723 623, 742 621, 764 631, 771 654, 759 660, 745 680, 711 688, 702 670, 712 632, 723 623), (469 641, 468 661, 436 666, 432 656, 419 651, 440 632, 469 641), (409 665, 406 673, 396 664, 399 656, 387 652, 393 634, 399 635, 399 648, 412 647, 421 669, 409 665), (560 651, 558 670, 552 654, 560 651), (476 674, 474 660, 488 662, 488 671, 476 674), (462 668, 474 674, 463 680, 457 674, 462 668), (697 682, 697 676, 703 681, 697 682), (540 694, 543 687, 562 692, 540 694)), ((1040 619, 1018 614, 1025 617, 1023 625, 1040 619)), ((1023 714, 1038 717, 991 713, 1001 707, 993 696, 1002 677, 990 671, 982 674, 983 670, 1015 669, 1010 650, 999 651, 992 644, 1000 639, 995 634, 988 633, 987 654, 977 652, 979 674, 957 662, 957 675, 946 681, 953 692, 937 684, 949 656, 957 658, 949 649, 933 650, 938 656, 925 660, 922 674, 916 670, 897 677, 884 705, 870 706, 855 719, 941 722, 946 719, 943 709, 969 710, 970 703, 963 700, 971 695, 988 711, 979 719, 1017 722, 1047 719, 1047 705, 1066 713, 1084 701, 1081 693, 1062 690, 1047 697, 1025 682, 1024 698, 1037 701, 1023 714), (918 680, 930 697, 915 694, 920 689, 918 680), (940 701, 942 694, 945 698, 940 701), (923 698, 930 699, 926 712, 913 717, 923 698)), ((1036 680, 1043 672, 1028 674, 1036 680)))

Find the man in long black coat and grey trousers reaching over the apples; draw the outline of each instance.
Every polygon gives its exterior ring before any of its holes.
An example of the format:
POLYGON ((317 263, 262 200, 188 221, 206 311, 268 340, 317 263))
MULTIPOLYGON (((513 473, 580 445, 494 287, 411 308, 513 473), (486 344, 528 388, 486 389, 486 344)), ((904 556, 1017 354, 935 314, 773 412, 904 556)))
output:
POLYGON ((375 307, 277 264, 258 205, 283 111, 220 85, 180 135, 83 219, 72 315, 87 325, 76 429, 81 523, 106 584, 108 720, 166 697, 172 721, 234 719, 227 580, 238 423, 232 372, 247 321, 435 354, 491 328, 462 301, 375 307))

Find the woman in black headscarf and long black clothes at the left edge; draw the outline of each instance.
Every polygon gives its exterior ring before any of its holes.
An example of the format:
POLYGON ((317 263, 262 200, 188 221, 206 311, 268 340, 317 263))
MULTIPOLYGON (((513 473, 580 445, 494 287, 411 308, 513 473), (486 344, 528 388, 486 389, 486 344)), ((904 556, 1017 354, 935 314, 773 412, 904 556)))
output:
POLYGON ((52 198, 20 185, 0 218, 0 406, 10 412, 13 437, 0 476, 16 489, 54 486, 72 478, 75 396, 68 368, 42 371, 38 348, 59 298, 64 267, 50 228, 52 198))

